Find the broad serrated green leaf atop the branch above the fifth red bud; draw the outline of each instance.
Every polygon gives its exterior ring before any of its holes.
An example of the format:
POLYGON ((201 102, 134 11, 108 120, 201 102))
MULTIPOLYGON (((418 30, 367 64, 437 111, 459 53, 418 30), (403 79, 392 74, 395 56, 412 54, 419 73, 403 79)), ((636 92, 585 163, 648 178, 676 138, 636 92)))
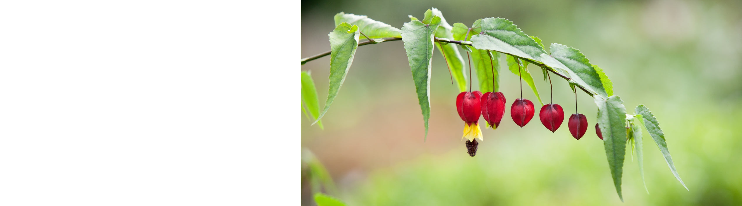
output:
MULTIPOLYGON (((598 95, 608 97, 600 76, 592 66, 593 64, 590 64, 588 59, 585 58, 585 55, 580 53, 580 50, 562 44, 551 44, 549 50, 551 50, 551 56, 554 59, 557 59, 557 61, 566 66, 565 69, 570 70, 579 77, 573 78, 577 84, 583 87, 586 85, 591 90, 597 92, 598 95)), ((572 75, 572 73, 570 73, 570 76, 574 77, 575 75, 572 75)))

